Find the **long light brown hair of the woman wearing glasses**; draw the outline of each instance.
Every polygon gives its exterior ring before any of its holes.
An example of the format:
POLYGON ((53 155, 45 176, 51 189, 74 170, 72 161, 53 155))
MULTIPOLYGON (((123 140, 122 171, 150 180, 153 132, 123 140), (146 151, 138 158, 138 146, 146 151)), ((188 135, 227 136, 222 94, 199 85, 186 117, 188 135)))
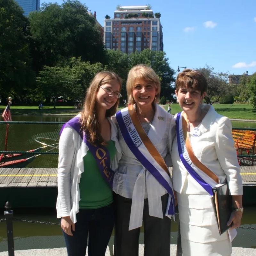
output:
MULTIPOLYGON (((81 112, 80 122, 82 130, 88 134, 88 141, 94 144, 105 143, 101 136, 101 126, 97 112, 97 92, 100 85, 107 83, 111 84, 113 81, 120 84, 120 91, 122 85, 121 78, 117 76, 114 72, 101 71, 94 76, 85 95, 84 109, 81 112)), ((117 98, 116 104, 106 111, 106 117, 113 116, 116 113, 118 103, 119 98, 117 98)))

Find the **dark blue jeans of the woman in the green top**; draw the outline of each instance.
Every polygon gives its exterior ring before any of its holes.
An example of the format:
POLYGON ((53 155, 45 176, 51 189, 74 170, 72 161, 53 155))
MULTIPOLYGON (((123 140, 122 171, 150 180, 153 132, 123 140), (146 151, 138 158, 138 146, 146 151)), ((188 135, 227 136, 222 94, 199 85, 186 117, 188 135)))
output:
POLYGON ((76 214, 76 220, 73 236, 67 235, 62 230, 68 256, 85 255, 88 232, 88 256, 105 256, 114 226, 113 204, 99 209, 80 209, 76 214))

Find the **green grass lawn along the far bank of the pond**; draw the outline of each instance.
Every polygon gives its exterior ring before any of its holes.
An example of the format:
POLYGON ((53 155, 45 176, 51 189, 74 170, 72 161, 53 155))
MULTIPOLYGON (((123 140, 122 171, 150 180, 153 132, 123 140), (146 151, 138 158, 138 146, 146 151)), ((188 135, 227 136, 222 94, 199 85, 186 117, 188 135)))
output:
MULTIPOLYGON (((4 111, 6 106, 0 106, 0 113, 4 111)), ((256 120, 256 110, 253 110, 250 104, 213 104, 215 110, 223 116, 227 116, 229 118, 234 119, 250 119, 256 120), (245 110, 244 110, 245 108, 245 110)), ((118 110, 122 109, 123 106, 120 106, 118 110)), ((168 104, 164 105, 164 108, 168 109, 168 104)), ((180 105, 173 103, 171 104, 172 114, 176 114, 181 111, 180 105)), ((79 110, 76 110, 72 106, 67 107, 59 107, 57 106, 55 109, 53 107, 38 109, 38 106, 11 106, 12 115, 15 114, 30 114, 30 115, 38 115, 38 114, 66 114, 66 115, 77 115, 79 110)))

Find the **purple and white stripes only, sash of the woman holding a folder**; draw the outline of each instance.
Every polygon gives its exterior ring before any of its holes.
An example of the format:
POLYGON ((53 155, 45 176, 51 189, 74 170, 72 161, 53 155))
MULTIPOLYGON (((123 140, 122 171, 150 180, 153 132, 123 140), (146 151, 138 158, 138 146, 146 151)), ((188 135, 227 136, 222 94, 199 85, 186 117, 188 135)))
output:
POLYGON ((193 164, 192 160, 188 155, 188 150, 186 148, 186 142, 184 139, 184 133, 182 129, 182 115, 178 113, 176 116, 176 138, 179 156, 182 164, 187 169, 188 173, 198 182, 202 188, 209 195, 213 195, 212 188, 214 188, 218 183, 212 180, 206 173, 200 170, 195 164, 193 164))

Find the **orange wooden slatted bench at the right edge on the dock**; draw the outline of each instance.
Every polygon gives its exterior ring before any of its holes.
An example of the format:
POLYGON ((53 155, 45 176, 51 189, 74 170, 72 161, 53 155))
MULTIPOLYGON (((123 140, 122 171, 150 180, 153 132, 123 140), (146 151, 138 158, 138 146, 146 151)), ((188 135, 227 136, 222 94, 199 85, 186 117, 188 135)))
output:
MULTIPOLYGON (((237 155, 243 155, 244 151, 247 153, 247 155, 254 155, 256 131, 233 129, 232 135, 237 155)), ((253 160, 254 158, 252 157, 252 165, 253 160)))

